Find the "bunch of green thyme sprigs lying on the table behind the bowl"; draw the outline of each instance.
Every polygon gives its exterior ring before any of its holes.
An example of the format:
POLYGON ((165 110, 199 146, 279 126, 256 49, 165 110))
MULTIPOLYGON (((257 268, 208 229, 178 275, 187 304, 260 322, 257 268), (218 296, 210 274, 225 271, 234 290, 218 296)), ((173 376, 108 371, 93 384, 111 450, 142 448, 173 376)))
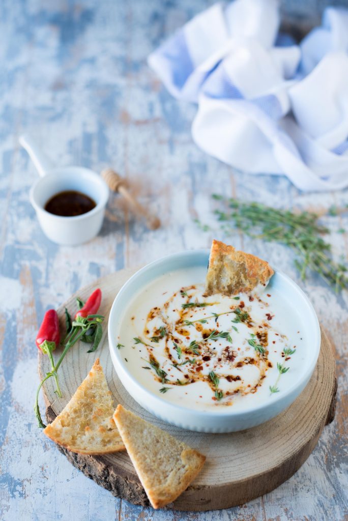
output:
POLYGON ((347 267, 333 261, 331 245, 322 238, 330 230, 318 223, 317 214, 295 214, 290 210, 271 208, 262 203, 225 200, 216 194, 213 198, 222 200, 227 205, 227 211, 215 210, 225 232, 235 231, 229 224, 231 222, 249 237, 283 243, 296 254, 295 265, 303 280, 309 268, 317 272, 335 291, 348 288, 347 267))

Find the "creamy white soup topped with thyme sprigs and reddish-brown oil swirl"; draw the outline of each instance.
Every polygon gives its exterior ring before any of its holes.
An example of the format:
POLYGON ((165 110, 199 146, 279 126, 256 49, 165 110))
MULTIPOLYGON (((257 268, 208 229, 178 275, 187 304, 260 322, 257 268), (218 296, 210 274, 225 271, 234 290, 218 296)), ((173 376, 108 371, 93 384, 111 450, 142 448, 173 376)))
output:
POLYGON ((245 410, 287 389, 304 368, 302 319, 271 285, 204 295, 204 268, 150 282, 125 309, 116 343, 131 374, 169 402, 245 410))

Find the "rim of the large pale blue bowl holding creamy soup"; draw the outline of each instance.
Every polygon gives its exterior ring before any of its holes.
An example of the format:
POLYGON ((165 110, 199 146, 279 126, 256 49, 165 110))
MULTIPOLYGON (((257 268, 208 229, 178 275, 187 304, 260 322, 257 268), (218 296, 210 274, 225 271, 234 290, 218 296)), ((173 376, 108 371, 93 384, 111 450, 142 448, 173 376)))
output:
MULTIPOLYGON (((132 373, 129 371, 129 369, 127 368, 126 364, 122 362, 122 358, 121 358, 120 352, 116 348, 116 345, 115 345, 116 341, 114 340, 114 338, 112 336, 113 331, 111 331, 111 329, 113 328, 113 326, 112 326, 113 321, 111 319, 113 317, 113 314, 115 313, 114 310, 115 310, 115 307, 116 307, 116 303, 119 300, 122 299, 123 293, 125 293, 127 291, 128 286, 131 283, 133 283, 134 279, 138 278, 141 274, 143 274, 144 271, 146 272, 148 269, 153 268, 156 265, 165 262, 167 259, 175 258, 175 257, 182 257, 182 256, 190 256, 190 255, 206 255, 207 256, 207 260, 208 260, 209 252, 210 252, 210 250, 208 250, 208 249, 200 249, 200 250, 187 250, 187 251, 183 251, 183 252, 177 252, 177 253, 172 253, 172 254, 169 254, 169 255, 165 255, 163 257, 160 257, 159 259, 156 259, 156 261, 148 263, 144 267, 140 268, 138 271, 136 271, 127 280, 127 282, 125 282, 125 284, 123 284, 122 288, 119 290, 119 292, 117 293, 117 295, 116 295, 116 297, 114 299, 113 305, 111 306, 110 314, 109 314, 109 320, 108 320, 108 342, 109 342, 109 351, 110 351, 111 361, 113 362, 113 365, 114 365, 116 373, 118 373, 117 368, 115 367, 113 354, 111 353, 111 349, 112 349, 113 352, 114 352, 114 356, 116 357, 117 361, 119 362, 119 364, 121 366, 121 369, 123 371, 125 371, 127 376, 132 380, 132 382, 136 386, 140 387, 144 392, 146 392, 148 395, 151 395, 152 398, 155 398, 156 400, 161 402, 163 405, 167 405, 167 406, 170 405, 171 407, 173 407, 178 412, 179 411, 187 411, 187 412, 195 412, 195 413, 203 415, 203 416, 212 415, 212 416, 216 416, 216 417, 231 417, 231 418, 233 418, 234 416, 237 417, 237 416, 241 416, 241 415, 244 415, 244 414, 250 414, 250 413, 253 413, 253 412, 256 412, 256 411, 263 411, 264 409, 268 408, 269 406, 272 406, 272 405, 274 405, 274 404, 284 400, 284 398, 289 396, 296 389, 301 388, 303 383, 306 382, 306 380, 308 380, 310 378, 310 376, 312 376, 313 371, 314 371, 315 366, 316 366, 317 361, 318 361, 319 353, 320 353, 321 333, 320 333, 320 325, 319 325, 319 321, 318 321, 318 317, 317 317, 317 314, 315 312, 315 309, 314 309, 312 303, 310 302, 310 300, 308 299, 307 295, 304 293, 304 291, 296 284, 296 282, 294 282, 288 275, 284 274, 281 270, 278 270, 278 269, 274 268, 275 274, 279 274, 283 279, 285 279, 287 281, 287 283, 290 284, 290 286, 292 286, 295 289, 295 291, 297 291, 299 293, 299 295, 301 296, 301 298, 304 300, 304 302, 307 305, 308 312, 309 312, 310 316, 314 320, 314 323, 316 325, 316 331, 313 331, 313 337, 312 338, 314 339, 314 342, 313 342, 312 345, 315 346, 316 351, 314 353, 314 358, 312 359, 312 363, 308 364, 308 367, 306 368, 305 372, 303 373, 301 379, 300 380, 296 380, 295 383, 293 383, 291 386, 289 386, 286 391, 282 391, 279 394, 276 393, 274 395, 274 399, 272 399, 271 402, 259 404, 259 405, 256 405, 255 407, 248 407, 245 410, 239 410, 239 411, 233 411, 232 409, 230 410, 230 408, 227 409, 226 407, 221 408, 221 410, 217 409, 217 410, 212 410, 212 411, 210 411, 210 410, 209 411, 203 411, 203 410, 200 410, 200 409, 195 409, 194 407, 187 407, 187 406, 184 406, 184 405, 178 405, 176 403, 173 403, 173 402, 170 402, 170 401, 166 400, 164 398, 164 396, 159 396, 155 392, 149 390, 142 383, 140 383, 139 380, 137 380, 132 375, 132 373)), ((139 288, 139 291, 140 290, 141 290, 141 288, 139 288)), ((129 303, 129 301, 128 301, 128 303, 129 303)), ((124 307, 126 308, 126 306, 124 306, 124 307)), ((115 338, 116 338, 116 336, 115 336, 115 338)), ((128 391, 127 388, 126 388, 126 390, 127 390, 127 392, 130 393, 130 391, 128 391)), ((295 399, 296 398, 297 398, 297 396, 295 397, 295 399)), ((135 398, 134 398, 134 400, 137 401, 135 398)))

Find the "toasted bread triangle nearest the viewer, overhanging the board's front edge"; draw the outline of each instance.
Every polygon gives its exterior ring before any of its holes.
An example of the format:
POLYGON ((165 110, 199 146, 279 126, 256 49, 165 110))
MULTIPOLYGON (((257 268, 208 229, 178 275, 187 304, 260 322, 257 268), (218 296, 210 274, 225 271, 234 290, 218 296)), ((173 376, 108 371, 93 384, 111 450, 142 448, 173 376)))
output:
POLYGON ((115 423, 154 508, 171 503, 200 472, 205 456, 118 405, 115 423))

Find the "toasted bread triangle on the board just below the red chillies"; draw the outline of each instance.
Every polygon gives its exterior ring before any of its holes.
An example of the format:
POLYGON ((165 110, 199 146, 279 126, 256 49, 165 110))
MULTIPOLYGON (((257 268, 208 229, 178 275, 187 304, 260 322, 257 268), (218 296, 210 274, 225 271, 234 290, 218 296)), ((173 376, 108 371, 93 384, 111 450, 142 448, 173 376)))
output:
POLYGON ((48 438, 79 454, 125 449, 113 419, 114 404, 99 358, 63 411, 47 425, 48 438))

